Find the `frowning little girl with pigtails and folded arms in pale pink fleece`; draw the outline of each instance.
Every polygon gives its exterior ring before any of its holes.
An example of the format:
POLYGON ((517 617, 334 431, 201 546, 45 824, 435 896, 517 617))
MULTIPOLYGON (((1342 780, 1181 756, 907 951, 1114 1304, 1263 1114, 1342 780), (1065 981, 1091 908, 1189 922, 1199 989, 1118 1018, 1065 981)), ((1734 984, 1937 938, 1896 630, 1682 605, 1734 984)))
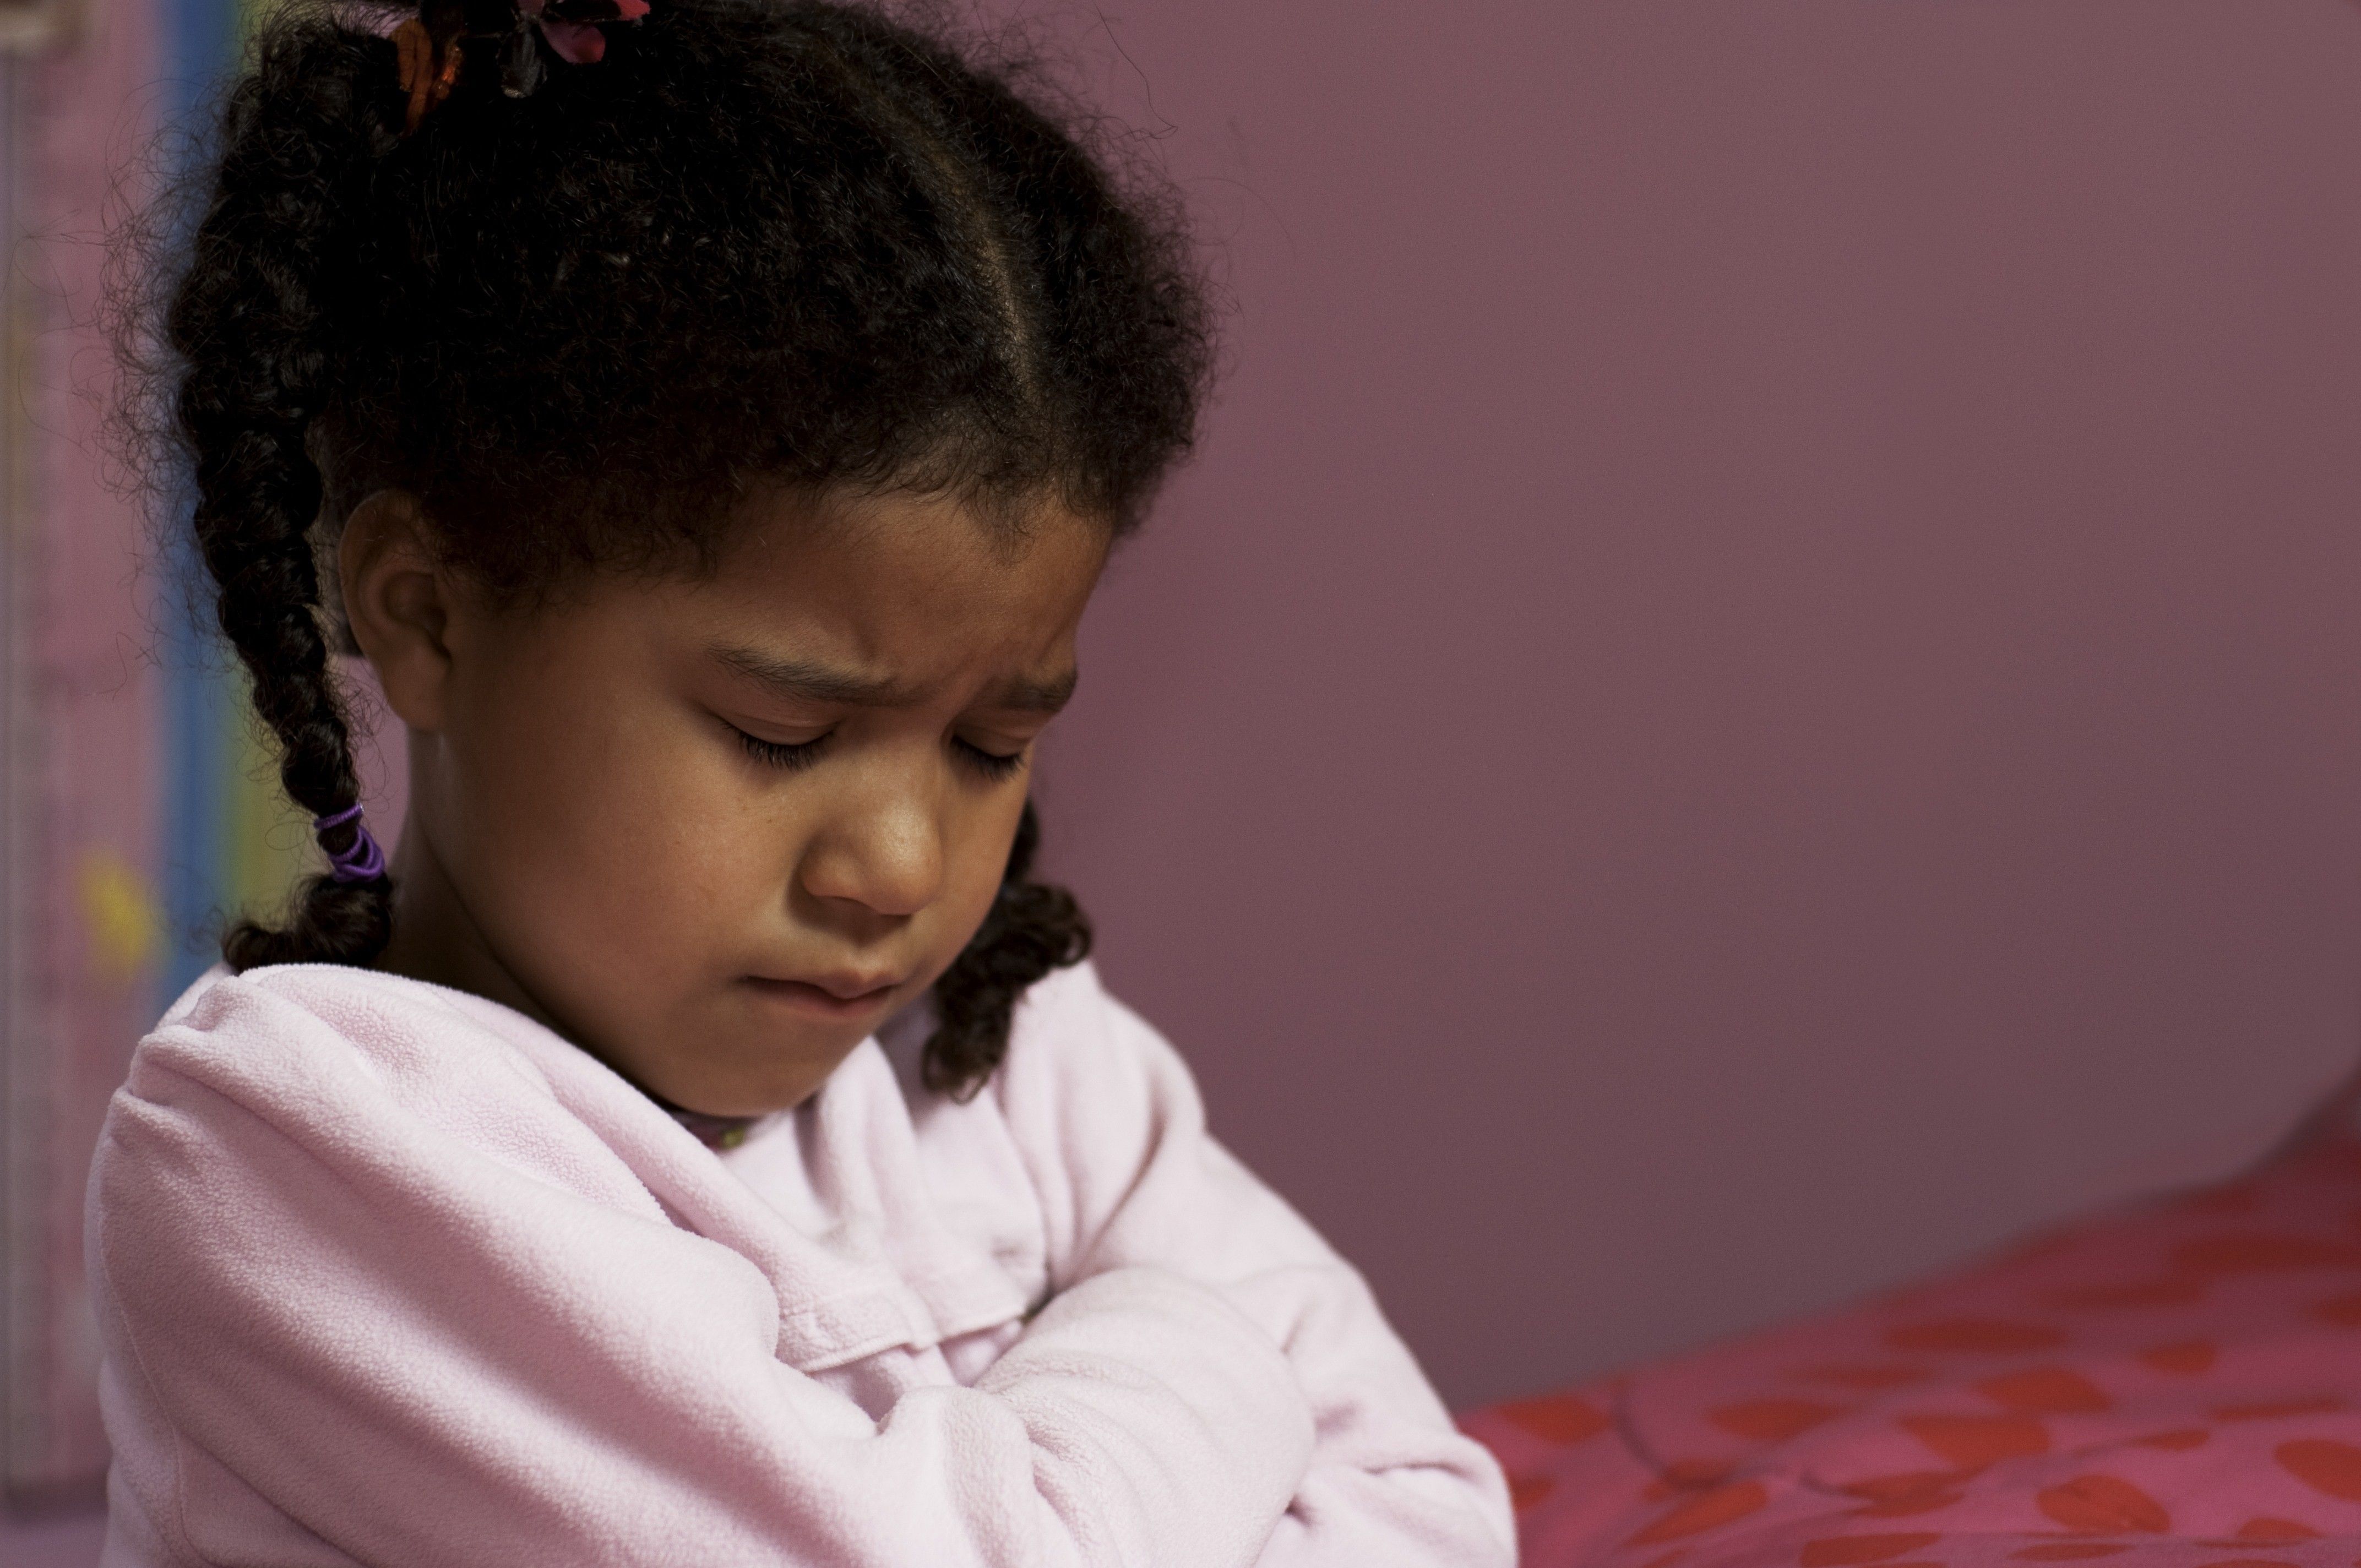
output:
POLYGON ((106 1122, 111 1566, 1513 1559, 1027 874, 1204 383, 1162 203, 848 5, 302 9, 163 333, 331 869, 106 1122))

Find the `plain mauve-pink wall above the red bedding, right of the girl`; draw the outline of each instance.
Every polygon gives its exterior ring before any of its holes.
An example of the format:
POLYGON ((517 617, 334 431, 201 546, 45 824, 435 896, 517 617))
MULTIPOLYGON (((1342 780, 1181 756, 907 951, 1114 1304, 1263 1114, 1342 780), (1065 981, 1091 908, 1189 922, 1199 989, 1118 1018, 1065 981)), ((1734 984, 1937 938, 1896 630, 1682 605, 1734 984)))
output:
POLYGON ((1445 1393, 2361 1056, 2361 9, 1055 17, 1240 309, 1053 857, 1445 1393))

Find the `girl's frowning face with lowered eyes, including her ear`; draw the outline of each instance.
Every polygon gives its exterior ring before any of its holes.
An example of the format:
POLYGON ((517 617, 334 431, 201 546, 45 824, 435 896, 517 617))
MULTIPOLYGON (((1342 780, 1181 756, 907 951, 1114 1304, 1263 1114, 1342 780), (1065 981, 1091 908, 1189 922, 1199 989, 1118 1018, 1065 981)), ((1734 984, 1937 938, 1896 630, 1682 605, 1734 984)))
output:
POLYGON ((382 494, 340 567, 411 730, 382 966, 527 1011, 675 1105, 758 1115, 982 923, 1107 531, 781 498, 732 541, 711 576, 501 612, 382 494))

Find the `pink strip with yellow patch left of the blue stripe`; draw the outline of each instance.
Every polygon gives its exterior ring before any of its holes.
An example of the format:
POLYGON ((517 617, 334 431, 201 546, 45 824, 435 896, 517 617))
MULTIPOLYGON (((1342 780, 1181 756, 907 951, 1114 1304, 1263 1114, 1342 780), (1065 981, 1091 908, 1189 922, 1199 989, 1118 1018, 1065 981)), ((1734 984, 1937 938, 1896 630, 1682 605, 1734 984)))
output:
MULTIPOLYGON (((156 52, 137 7, 9 61, 0 201, 0 1490, 94 1495, 106 1464, 83 1285, 83 1174, 156 1020, 158 682, 139 512, 94 453, 109 201, 137 175, 156 52)), ((0 1497, 5 1507, 7 1497, 0 1497)), ((0 1556, 7 1542, 0 1542, 0 1556)), ((7 1556, 7 1561, 14 1561, 7 1556)))

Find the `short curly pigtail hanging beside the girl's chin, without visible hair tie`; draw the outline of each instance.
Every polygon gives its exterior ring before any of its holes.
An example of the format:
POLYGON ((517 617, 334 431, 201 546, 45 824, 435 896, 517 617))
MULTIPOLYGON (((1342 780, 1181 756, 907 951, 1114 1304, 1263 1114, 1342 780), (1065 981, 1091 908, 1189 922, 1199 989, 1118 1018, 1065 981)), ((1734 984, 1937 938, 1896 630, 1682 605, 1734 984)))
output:
POLYGON ((1041 822, 1027 801, 992 914, 935 982, 935 1032, 921 1065, 935 1093, 973 1098, 1008 1053, 1018 997, 1048 971, 1091 956, 1091 919, 1074 895, 1029 876, 1039 848, 1041 822))

